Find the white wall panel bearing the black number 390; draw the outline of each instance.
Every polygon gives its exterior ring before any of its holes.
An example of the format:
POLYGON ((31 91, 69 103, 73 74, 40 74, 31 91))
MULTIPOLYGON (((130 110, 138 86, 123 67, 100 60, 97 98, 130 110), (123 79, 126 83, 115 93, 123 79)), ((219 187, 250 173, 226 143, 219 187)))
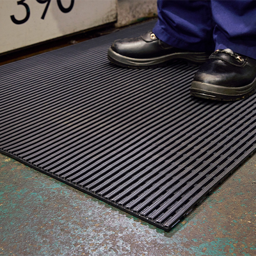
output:
POLYGON ((0 53, 115 20, 116 0, 0 0, 0 53))

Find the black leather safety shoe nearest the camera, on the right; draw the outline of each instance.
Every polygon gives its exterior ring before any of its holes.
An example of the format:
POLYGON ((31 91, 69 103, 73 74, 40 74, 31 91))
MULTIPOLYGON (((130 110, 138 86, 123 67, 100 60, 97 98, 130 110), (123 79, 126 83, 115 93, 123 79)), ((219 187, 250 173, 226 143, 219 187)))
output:
POLYGON ((255 88, 256 60, 225 49, 212 53, 195 74, 190 94, 205 99, 239 100, 253 94, 255 88))

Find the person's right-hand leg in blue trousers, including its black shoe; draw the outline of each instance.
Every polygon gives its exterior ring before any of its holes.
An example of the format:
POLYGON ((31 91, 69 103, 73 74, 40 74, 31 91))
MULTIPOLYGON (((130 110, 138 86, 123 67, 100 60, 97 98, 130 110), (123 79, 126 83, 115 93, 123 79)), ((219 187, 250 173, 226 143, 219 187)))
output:
POLYGON ((211 1, 216 50, 191 84, 193 96, 237 100, 256 88, 256 1, 211 1))

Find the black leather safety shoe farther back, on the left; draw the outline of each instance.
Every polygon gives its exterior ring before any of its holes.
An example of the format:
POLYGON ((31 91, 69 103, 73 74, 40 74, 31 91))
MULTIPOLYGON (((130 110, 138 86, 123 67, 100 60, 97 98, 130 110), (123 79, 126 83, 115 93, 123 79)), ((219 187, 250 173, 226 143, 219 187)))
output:
POLYGON ((127 68, 156 68, 173 59, 185 59, 201 64, 210 54, 174 48, 165 44, 153 32, 129 39, 115 40, 108 51, 111 62, 127 68))

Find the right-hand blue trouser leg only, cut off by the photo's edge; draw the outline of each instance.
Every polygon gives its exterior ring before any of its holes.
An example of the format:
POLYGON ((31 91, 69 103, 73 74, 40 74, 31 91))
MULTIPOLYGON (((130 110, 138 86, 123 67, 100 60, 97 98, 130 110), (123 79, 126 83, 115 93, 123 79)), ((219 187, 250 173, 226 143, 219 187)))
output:
POLYGON ((211 1, 215 50, 230 48, 256 59, 256 1, 211 1))

